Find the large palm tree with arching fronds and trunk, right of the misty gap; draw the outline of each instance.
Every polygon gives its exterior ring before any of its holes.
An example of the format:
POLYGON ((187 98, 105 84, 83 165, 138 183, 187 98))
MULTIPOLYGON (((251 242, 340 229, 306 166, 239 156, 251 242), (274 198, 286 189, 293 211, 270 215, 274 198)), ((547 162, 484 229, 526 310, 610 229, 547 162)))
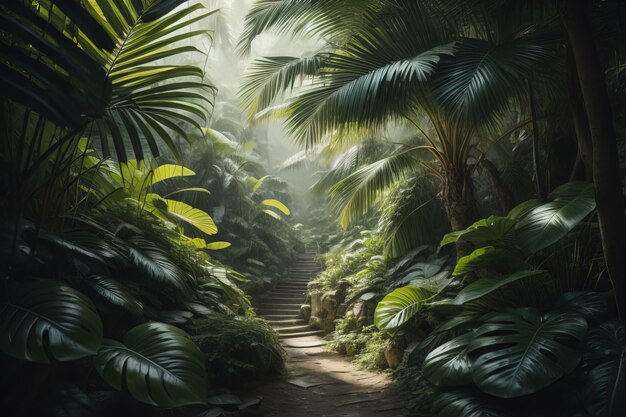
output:
MULTIPOLYGON (((290 133, 307 147, 331 133, 330 140, 340 141, 393 120, 412 124, 426 143, 420 149, 432 155, 428 167, 441 181, 450 225, 460 230, 478 215, 468 164, 478 128, 497 127, 509 99, 524 91, 531 70, 548 56, 548 39, 519 22, 493 25, 489 19, 503 16, 502 5, 477 10, 446 3, 362 2, 358 22, 345 33, 336 27, 354 13, 353 2, 260 2, 248 15, 243 49, 268 28, 312 30, 330 41, 312 57, 257 61, 242 93, 256 112, 309 79, 281 110, 290 133), (473 14, 461 18, 459 10, 473 14)), ((461 244, 457 249, 466 252, 461 244)))

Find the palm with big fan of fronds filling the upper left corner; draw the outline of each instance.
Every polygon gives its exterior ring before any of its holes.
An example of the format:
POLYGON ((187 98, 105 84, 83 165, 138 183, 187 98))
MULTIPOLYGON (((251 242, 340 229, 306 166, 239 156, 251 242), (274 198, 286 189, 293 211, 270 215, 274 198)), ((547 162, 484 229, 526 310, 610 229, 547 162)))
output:
POLYGON ((177 136, 204 125, 213 87, 192 30, 213 11, 181 0, 10 2, 0 5, 0 177, 9 219, 54 218, 76 196, 81 141, 126 162, 131 152, 180 160, 177 136), (178 62, 176 62, 178 61, 178 62), (97 143, 96 143, 97 142, 97 143))

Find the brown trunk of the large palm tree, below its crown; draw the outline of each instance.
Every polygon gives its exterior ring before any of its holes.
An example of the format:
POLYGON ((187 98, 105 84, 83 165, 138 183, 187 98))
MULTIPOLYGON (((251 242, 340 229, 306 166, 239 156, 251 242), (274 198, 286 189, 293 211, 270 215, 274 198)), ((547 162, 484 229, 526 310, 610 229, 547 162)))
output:
MULTIPOLYGON (((448 167, 442 173, 443 187, 441 200, 448 216, 452 231, 469 227, 478 218, 478 208, 474 199, 472 179, 466 169, 448 167)), ((459 240, 456 242, 457 260, 472 252, 472 244, 459 240)))

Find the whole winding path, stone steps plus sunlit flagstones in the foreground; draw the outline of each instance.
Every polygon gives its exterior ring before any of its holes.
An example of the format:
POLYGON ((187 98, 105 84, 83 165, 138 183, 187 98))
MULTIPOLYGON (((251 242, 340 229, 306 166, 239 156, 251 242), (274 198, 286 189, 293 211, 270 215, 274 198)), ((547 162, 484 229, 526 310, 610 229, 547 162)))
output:
POLYGON ((283 376, 262 381, 247 392, 261 398, 244 416, 397 417, 402 404, 389 393, 390 379, 357 369, 348 359, 324 349, 328 343, 300 317, 306 285, 320 270, 311 253, 289 269, 289 277, 261 300, 259 315, 278 332, 288 354, 283 376))

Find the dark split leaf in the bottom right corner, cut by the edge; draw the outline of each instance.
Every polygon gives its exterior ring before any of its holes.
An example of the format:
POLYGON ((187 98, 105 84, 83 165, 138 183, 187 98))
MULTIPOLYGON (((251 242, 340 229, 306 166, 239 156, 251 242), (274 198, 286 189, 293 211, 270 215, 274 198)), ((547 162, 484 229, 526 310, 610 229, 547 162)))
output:
POLYGON ((589 369, 583 388, 589 414, 626 415, 626 325, 607 322, 589 332, 583 366, 589 369))

